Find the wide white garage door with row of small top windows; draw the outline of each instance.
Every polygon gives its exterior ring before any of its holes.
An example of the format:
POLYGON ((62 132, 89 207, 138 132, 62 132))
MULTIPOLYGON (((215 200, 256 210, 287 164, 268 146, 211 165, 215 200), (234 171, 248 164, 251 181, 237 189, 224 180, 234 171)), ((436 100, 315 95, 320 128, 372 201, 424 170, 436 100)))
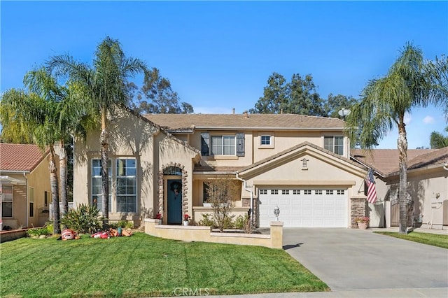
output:
POLYGON ((276 220, 276 206, 283 227, 347 227, 347 204, 347 191, 341 189, 260 189, 260 227, 276 220))

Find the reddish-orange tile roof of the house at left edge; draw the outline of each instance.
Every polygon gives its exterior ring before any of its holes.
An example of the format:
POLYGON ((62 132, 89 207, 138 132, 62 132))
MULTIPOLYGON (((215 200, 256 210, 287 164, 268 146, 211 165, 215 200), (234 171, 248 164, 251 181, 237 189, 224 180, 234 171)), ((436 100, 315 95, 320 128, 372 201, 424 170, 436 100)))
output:
POLYGON ((36 145, 0 143, 0 171, 32 171, 46 155, 36 145))

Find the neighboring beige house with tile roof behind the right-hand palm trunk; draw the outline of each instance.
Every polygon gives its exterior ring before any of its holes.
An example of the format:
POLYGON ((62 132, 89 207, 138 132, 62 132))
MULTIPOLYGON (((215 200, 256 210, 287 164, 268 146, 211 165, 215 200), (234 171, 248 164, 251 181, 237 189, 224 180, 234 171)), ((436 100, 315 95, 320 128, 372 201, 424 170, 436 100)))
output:
MULTIPOLYGON (((368 204, 371 227, 399 225, 398 149, 351 150, 351 158, 375 171, 377 202, 368 204)), ((446 229, 448 225, 448 147, 407 150, 408 226, 446 229), (446 166, 445 166, 446 168, 446 166)))

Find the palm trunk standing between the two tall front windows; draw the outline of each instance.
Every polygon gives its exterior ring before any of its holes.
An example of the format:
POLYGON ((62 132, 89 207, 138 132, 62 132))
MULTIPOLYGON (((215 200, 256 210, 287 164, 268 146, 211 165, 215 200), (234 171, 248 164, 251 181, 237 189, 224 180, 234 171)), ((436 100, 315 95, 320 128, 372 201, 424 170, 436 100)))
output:
POLYGON ((108 169, 108 156, 109 150, 109 134, 106 129, 106 109, 102 111, 102 132, 99 136, 99 143, 101 145, 101 175, 102 175, 102 213, 105 218, 104 228, 106 227, 107 220, 109 218, 109 169, 108 169))

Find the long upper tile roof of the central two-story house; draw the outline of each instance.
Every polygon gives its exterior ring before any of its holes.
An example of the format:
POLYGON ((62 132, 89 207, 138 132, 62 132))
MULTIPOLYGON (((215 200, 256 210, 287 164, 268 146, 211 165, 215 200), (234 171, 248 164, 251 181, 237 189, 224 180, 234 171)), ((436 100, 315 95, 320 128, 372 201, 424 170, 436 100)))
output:
POLYGON ((344 121, 295 114, 146 114, 168 130, 219 129, 344 129, 344 121))

